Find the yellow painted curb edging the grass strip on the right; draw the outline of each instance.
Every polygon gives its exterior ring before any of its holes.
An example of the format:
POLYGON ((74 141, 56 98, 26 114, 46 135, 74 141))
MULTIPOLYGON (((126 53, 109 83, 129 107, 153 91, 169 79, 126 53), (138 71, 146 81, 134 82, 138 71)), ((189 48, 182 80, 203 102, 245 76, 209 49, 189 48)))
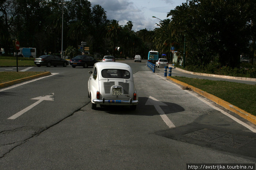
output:
POLYGON ((196 93, 206 97, 207 99, 212 100, 212 102, 217 103, 218 105, 226 108, 227 110, 230 110, 236 114, 238 114, 239 116, 241 116, 242 118, 245 118, 246 120, 252 122, 253 124, 256 124, 256 116, 242 110, 241 108, 238 108, 236 106, 234 106, 233 104, 230 104, 229 102, 226 102, 225 100, 222 100, 221 98, 218 98, 214 95, 211 95, 203 90, 200 90, 199 88, 193 87, 187 83, 181 82, 179 80, 173 79, 170 76, 167 76, 167 79, 172 80, 175 83, 178 83, 184 87, 188 87, 191 88, 193 91, 195 91, 196 93))

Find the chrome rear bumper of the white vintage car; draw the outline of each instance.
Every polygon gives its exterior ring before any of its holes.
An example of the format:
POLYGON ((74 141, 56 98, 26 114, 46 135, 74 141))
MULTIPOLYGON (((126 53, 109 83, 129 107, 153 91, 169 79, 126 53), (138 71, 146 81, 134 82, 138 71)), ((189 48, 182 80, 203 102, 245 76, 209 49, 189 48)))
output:
POLYGON ((96 104, 106 104, 106 105, 135 105, 138 104, 139 101, 138 100, 105 100, 104 98, 102 100, 99 99, 93 99, 93 102, 96 104))

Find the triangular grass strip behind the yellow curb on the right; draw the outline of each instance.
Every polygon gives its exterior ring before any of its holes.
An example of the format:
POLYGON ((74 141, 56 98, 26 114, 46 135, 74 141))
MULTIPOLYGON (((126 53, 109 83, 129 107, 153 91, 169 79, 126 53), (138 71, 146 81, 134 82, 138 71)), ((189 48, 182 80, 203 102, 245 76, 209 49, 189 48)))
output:
POLYGON ((256 85, 176 76, 172 78, 206 91, 256 116, 256 85))

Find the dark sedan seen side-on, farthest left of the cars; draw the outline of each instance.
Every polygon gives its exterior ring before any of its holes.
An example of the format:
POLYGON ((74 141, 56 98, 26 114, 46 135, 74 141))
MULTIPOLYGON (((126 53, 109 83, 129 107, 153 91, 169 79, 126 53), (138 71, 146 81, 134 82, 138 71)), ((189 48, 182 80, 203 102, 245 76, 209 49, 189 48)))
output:
POLYGON ((65 59, 60 58, 59 56, 56 55, 42 55, 38 58, 34 59, 34 64, 37 65, 37 67, 41 66, 63 66, 67 67, 68 66, 68 61, 65 59))

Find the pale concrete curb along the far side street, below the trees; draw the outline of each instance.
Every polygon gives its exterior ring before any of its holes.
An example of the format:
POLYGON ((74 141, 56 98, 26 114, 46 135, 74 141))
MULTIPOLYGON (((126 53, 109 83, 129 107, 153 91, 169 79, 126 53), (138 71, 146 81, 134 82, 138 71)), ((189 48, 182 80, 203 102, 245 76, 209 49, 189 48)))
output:
POLYGON ((247 77, 234 77, 234 76, 225 76, 225 75, 217 75, 217 74, 206 74, 206 73, 199 73, 199 72, 191 72, 187 70, 183 70, 181 68, 177 68, 169 64, 169 67, 175 68, 178 71, 182 71, 188 74, 193 74, 193 75, 199 75, 199 76, 208 76, 208 77, 217 77, 217 78, 223 78, 223 79, 234 79, 234 80, 245 80, 245 81, 252 81, 256 82, 256 78, 247 78, 247 77))

